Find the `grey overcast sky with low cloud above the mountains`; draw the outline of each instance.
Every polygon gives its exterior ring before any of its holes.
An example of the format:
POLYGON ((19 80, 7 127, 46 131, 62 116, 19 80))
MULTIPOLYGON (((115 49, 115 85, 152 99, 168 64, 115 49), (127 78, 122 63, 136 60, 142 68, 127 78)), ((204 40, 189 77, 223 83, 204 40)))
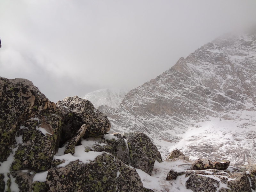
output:
POLYGON ((256 24, 256 0, 1 0, 0 76, 50 100, 133 89, 216 37, 256 24))

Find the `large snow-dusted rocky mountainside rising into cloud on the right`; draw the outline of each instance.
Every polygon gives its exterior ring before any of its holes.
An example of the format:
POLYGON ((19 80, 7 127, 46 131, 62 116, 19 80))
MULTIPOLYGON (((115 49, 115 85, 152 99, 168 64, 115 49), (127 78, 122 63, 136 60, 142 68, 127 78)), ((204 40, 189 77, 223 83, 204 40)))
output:
POLYGON ((113 132, 144 132, 163 157, 178 148, 255 163, 256 33, 221 36, 127 93, 119 108, 99 110, 113 132))

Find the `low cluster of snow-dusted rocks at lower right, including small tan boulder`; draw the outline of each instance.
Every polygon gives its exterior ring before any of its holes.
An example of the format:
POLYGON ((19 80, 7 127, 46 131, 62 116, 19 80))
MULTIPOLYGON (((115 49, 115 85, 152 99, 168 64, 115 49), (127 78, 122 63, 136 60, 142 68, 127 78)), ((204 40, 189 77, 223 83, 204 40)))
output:
MULTIPOLYGON (((180 161, 180 153, 179 150, 172 151, 172 156, 176 154, 176 157, 166 161, 180 161)), ((256 189, 256 164, 229 167, 228 160, 218 162, 200 158, 180 164, 181 167, 184 165, 187 167, 183 170, 171 169, 166 180, 183 180, 184 188, 194 192, 252 192, 256 189)))

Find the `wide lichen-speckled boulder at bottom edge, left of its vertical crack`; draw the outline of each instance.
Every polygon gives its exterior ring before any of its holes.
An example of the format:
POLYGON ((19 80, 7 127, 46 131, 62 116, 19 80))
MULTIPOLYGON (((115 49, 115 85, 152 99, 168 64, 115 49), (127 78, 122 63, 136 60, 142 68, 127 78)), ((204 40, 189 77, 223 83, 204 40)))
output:
POLYGON ((103 153, 88 164, 76 160, 48 170, 46 183, 49 191, 116 191, 116 172, 114 156, 103 153))

